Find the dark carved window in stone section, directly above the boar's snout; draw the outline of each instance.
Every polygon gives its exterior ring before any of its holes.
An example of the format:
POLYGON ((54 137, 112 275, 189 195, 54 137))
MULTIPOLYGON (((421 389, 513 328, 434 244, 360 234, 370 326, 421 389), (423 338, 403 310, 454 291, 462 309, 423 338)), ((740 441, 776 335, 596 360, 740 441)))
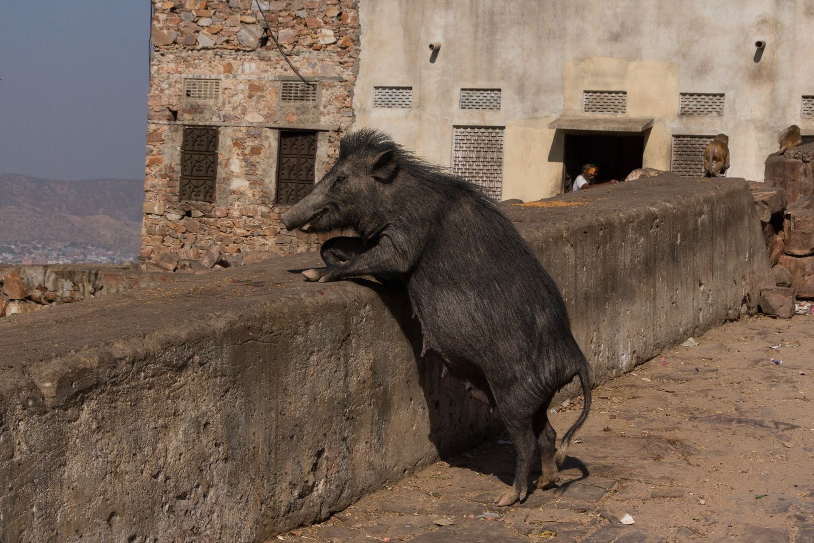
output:
POLYGON ((277 203, 293 205, 313 189, 316 132, 281 132, 277 164, 277 203))

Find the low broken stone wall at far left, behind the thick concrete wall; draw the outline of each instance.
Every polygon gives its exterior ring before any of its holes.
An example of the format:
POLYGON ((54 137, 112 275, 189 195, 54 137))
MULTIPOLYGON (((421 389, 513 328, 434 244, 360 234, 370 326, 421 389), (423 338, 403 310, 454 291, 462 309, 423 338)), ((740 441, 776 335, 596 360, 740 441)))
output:
POLYGON ((133 267, 0 265, 0 317, 89 300, 129 288, 173 282, 166 274, 144 274, 133 267))

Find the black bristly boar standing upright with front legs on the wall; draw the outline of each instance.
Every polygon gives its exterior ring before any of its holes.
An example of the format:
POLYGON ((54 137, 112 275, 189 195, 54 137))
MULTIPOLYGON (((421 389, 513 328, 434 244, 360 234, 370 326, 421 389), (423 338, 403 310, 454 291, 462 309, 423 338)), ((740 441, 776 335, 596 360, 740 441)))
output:
POLYGON ((554 281, 477 186, 419 160, 386 134, 361 129, 342 138, 335 166, 281 219, 288 230, 352 226, 361 235, 326 242, 328 267, 304 272, 309 280, 374 275, 405 283, 425 351, 439 353, 475 397, 497 405, 510 432, 517 471, 501 505, 526 496, 537 450, 537 486, 554 484, 589 413, 588 362, 554 281), (576 375, 584 408, 557 450, 547 408, 576 375))

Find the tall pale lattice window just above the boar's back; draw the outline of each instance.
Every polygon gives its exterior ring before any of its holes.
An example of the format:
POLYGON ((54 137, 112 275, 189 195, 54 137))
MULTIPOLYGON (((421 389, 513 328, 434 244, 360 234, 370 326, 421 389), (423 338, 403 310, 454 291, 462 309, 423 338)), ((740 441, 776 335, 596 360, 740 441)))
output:
POLYGON ((503 180, 502 128, 456 126, 453 142, 453 173, 484 187, 500 201, 503 180))

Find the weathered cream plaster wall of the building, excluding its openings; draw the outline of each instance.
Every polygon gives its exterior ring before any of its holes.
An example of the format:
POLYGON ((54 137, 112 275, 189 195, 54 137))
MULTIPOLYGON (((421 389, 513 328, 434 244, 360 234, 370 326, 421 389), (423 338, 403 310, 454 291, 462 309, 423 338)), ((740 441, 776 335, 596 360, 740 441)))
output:
POLYGON ((628 116, 654 117, 644 166, 669 169, 672 134, 729 134, 729 175, 763 180, 814 94, 805 51, 814 8, 794 0, 538 2, 361 0, 356 125, 385 129, 452 164, 453 125, 505 126, 503 199, 558 194, 562 142, 547 125, 583 115, 583 90, 628 91, 628 116), (768 46, 755 62, 755 41, 768 46), (431 62, 427 45, 441 42, 431 62), (373 107, 376 85, 413 87, 411 109, 373 107), (462 88, 501 88, 500 111, 458 107, 462 88), (724 93, 723 116, 679 116, 681 92, 724 93))

